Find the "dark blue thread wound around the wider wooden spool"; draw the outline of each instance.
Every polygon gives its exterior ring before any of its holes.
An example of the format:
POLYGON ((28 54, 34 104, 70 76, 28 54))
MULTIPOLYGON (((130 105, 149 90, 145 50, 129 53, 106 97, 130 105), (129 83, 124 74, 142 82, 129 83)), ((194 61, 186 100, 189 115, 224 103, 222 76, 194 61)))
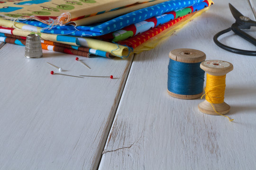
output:
POLYGON ((201 62, 183 63, 169 60, 167 88, 170 92, 182 95, 195 95, 203 91, 204 71, 201 62))

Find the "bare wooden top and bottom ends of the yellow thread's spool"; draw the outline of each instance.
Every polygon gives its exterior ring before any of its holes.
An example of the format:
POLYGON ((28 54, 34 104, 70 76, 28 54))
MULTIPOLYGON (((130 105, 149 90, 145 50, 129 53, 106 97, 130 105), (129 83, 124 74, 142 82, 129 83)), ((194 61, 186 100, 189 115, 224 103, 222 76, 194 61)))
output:
MULTIPOLYGON (((233 70, 233 65, 227 61, 207 60, 201 62, 200 68, 212 76, 224 76, 233 70)), ((215 110, 222 115, 228 113, 230 110, 230 106, 226 102, 218 104, 213 103, 212 105, 214 106, 215 110)), ((210 102, 206 100, 198 104, 198 109, 206 114, 219 115, 213 110, 210 102)))

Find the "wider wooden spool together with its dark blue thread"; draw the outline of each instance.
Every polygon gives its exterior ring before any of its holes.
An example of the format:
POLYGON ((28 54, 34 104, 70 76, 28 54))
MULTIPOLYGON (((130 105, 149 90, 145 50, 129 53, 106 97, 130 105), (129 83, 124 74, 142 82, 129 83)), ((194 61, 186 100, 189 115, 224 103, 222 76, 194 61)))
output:
MULTIPOLYGON (((206 55, 204 52, 194 49, 175 49, 170 51, 169 53, 170 62, 168 66, 168 87, 167 92, 179 99, 196 99, 202 96, 203 93, 203 78, 204 78, 204 71, 200 68, 200 63, 206 59, 206 55), (190 64, 191 63, 191 64, 190 64), (179 68, 175 68, 172 70, 172 66, 177 65, 179 68), (183 70, 185 68, 190 68, 191 71, 184 73, 183 70), (194 69, 193 69, 194 68, 194 69), (171 73, 172 71, 175 71, 171 73), (200 72, 200 73, 198 73, 200 72), (172 75, 175 74, 175 75, 172 75), (177 76, 176 74, 180 74, 177 76), (196 76, 192 76, 195 74, 196 76), (199 85, 199 89, 193 93, 192 82, 195 82, 198 78, 197 75, 202 76, 202 80, 199 85), (188 78, 184 78, 184 77, 188 78), (194 79, 195 78, 195 79, 194 79), (188 80, 183 84, 174 84, 174 80, 180 82, 181 79, 188 80), (176 90, 175 88, 181 88, 176 90)), ((182 80, 181 80, 182 81, 182 80)))

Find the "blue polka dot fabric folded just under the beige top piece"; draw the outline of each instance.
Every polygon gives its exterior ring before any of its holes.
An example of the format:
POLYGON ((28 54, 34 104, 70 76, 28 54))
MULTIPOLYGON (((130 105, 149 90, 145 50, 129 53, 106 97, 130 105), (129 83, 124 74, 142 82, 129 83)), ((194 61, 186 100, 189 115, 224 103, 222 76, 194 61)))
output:
POLYGON ((162 15, 166 12, 186 8, 194 4, 198 4, 203 0, 169 0, 159 3, 157 5, 142 8, 128 14, 116 17, 107 22, 97 24, 94 26, 53 26, 50 27, 39 21, 25 21, 26 24, 42 27, 42 33, 61 34, 73 36, 100 36, 108 34, 125 26, 144 21, 148 18, 162 15))

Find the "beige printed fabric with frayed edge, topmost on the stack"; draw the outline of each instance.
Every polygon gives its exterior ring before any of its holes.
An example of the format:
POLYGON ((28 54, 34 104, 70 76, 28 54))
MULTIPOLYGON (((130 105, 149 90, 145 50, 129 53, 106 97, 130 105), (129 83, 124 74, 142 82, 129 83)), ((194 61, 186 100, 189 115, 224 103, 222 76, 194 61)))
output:
POLYGON ((0 3, 0 15, 11 19, 32 18, 49 25, 63 25, 84 17, 151 1, 158 0, 5 0, 0 3))

